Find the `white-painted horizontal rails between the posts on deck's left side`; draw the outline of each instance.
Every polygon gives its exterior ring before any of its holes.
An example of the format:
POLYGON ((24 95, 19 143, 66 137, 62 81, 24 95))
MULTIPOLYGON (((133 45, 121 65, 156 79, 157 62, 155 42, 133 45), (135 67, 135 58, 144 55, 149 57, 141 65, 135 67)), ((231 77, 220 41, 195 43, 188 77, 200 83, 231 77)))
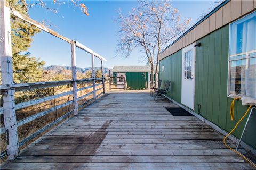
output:
MULTIPOLYGON (((108 80, 109 78, 104 78, 104 80, 108 80)), ((98 86, 102 86, 98 89, 95 89, 94 90, 91 90, 90 92, 86 92, 85 94, 83 94, 82 96, 80 97, 77 97, 77 101, 80 101, 82 99, 84 99, 85 97, 88 97, 90 95, 93 96, 93 94, 97 93, 98 91, 101 91, 99 92, 97 95, 87 99, 84 103, 82 103, 81 105, 78 105, 77 109, 81 109, 83 108, 86 104, 88 104, 90 101, 93 101, 94 99, 97 99, 98 97, 100 97, 102 94, 103 94, 103 84, 102 84, 102 78, 95 78, 95 79, 84 79, 84 80, 77 80, 76 82, 79 84, 79 83, 89 83, 89 82, 93 82, 97 81, 95 83, 95 88, 98 87, 98 86), (100 81, 100 82, 99 82, 100 81)), ((63 84, 71 84, 73 81, 59 81, 59 83, 56 83, 54 82, 54 85, 51 84, 51 87, 54 87, 54 86, 59 86, 59 84, 63 85, 63 84)), ((42 85, 42 82, 38 82, 38 83, 34 83, 34 86, 33 86, 33 89, 38 89, 39 88, 42 88, 42 87, 49 87, 49 83, 50 82, 47 82, 46 84, 42 85), (40 84, 39 86, 37 86, 36 84, 40 84)), ((33 84, 33 83, 28 83, 28 84, 33 84)), ((18 84, 17 84, 18 85, 18 84)), ((15 87, 14 89, 17 88, 17 91, 27 91, 28 89, 27 88, 24 88, 26 86, 23 86, 24 84, 19 84, 20 86, 17 86, 15 87), (21 88, 22 87, 22 88, 21 88), (21 88, 21 89, 20 89, 21 88)), ((93 88, 93 85, 92 86, 86 86, 86 87, 82 87, 82 88, 79 88, 77 89, 77 92, 79 91, 83 91, 83 90, 87 90, 87 89, 91 89, 93 88)), ((6 88, 5 89, 1 89, 2 92, 7 90, 6 88)), ((31 89, 30 89, 31 90, 31 89)), ((43 97, 43 98, 39 98, 39 99, 34 99, 34 100, 30 100, 30 101, 25 101, 25 102, 22 102, 22 103, 19 103, 19 104, 16 104, 15 105, 15 110, 18 110, 18 109, 22 109, 22 108, 26 108, 26 107, 30 107, 30 106, 33 106, 33 105, 38 105, 38 104, 41 104, 41 103, 44 103, 46 101, 50 101, 50 100, 53 100, 53 99, 57 99, 57 98, 60 98, 60 97, 64 97, 64 96, 67 96, 67 95, 71 95, 73 94, 73 90, 71 91, 67 91, 67 92, 62 92, 60 94, 57 94, 57 95, 53 95, 53 96, 47 96, 47 97, 43 97)), ((23 118, 22 120, 19 120, 17 121, 17 128, 19 126, 22 126, 22 125, 25 125, 31 121, 34 121, 36 120, 37 118, 40 118, 42 116, 45 116, 47 114, 50 114, 54 111, 57 111, 58 109, 60 108, 63 108, 63 107, 67 107, 68 105, 74 105, 74 100, 71 100, 71 101, 67 101, 66 103, 63 103, 63 104, 60 104, 60 105, 57 105, 57 106, 54 106, 54 107, 51 107, 49 109, 46 109, 45 111, 42 111, 42 112, 39 112, 39 113, 36 113, 36 114, 33 114, 29 117, 26 117, 26 118, 23 118)), ((1 108, 0 110, 0 114, 4 114, 4 110, 5 108, 1 108)), ((51 128, 52 126, 54 126, 55 124, 58 124, 60 121, 62 121, 63 119, 65 119, 66 117, 68 117, 70 114, 74 114, 74 109, 70 112, 67 112, 66 114, 60 116, 57 120, 54 120, 53 122, 51 122, 50 124, 47 124, 46 126, 44 126, 44 128, 42 129, 39 129, 38 131, 36 131, 35 133, 29 135, 28 137, 26 137, 25 139, 22 139, 21 141, 18 141, 18 145, 19 147, 25 145, 26 142, 28 142, 29 140, 37 137, 38 135, 40 135, 42 132, 48 130, 49 128, 51 128)), ((5 130, 5 126, 2 126, 0 128, 0 134, 2 133, 6 133, 6 130, 5 130)), ((17 134, 18 135, 18 134, 17 134)), ((1 152, 1 158, 3 158, 4 156, 7 155, 7 150, 1 152)))

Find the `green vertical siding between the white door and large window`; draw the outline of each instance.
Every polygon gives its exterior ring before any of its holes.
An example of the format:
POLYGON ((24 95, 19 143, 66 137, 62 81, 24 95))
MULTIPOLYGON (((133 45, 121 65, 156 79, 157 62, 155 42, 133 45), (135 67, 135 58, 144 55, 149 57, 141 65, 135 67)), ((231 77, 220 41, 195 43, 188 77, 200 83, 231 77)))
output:
MULTIPOLYGON (((229 26, 210 33, 198 40, 201 47, 196 48, 195 112, 201 105, 201 115, 220 128, 230 131, 243 116, 247 106, 241 101, 235 104, 235 120, 230 119, 228 88, 228 49, 229 26)), ((242 133, 245 120, 238 126, 234 135, 242 133)))

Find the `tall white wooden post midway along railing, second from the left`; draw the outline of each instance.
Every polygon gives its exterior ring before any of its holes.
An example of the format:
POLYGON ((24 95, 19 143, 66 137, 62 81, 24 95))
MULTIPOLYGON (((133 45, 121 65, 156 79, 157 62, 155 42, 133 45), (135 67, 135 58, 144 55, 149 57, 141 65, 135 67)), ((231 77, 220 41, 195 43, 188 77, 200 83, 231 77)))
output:
POLYGON ((77 100, 77 78, 76 78, 76 46, 75 41, 71 42, 71 63, 72 63, 72 86, 73 86, 73 101, 74 101, 74 115, 78 114, 78 100, 77 100))

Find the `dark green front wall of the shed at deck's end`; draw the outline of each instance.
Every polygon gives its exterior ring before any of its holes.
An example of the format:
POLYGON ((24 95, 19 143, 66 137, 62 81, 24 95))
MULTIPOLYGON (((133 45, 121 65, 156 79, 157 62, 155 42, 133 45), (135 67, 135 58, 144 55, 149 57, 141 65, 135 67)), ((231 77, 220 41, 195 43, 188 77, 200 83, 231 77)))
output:
MULTIPOLYGON (((119 72, 124 73, 124 72, 119 72)), ((140 90, 147 89, 145 82, 148 83, 148 72, 125 72, 126 73, 126 82, 127 88, 129 90, 140 90), (146 79, 145 79, 146 74, 146 79)), ((113 75, 116 76, 116 72, 113 72, 113 75)), ((148 84, 147 84, 148 85, 148 84)))

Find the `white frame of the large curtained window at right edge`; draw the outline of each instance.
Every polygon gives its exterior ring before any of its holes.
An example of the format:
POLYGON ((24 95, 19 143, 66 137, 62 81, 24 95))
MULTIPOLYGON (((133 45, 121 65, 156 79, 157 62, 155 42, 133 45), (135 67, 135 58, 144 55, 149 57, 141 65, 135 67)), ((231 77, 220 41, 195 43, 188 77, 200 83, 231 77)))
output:
MULTIPOLYGON (((237 21, 239 21, 239 20, 242 20, 243 18, 245 18, 246 16, 248 16, 248 15, 250 15, 250 14, 252 14, 252 13, 256 13, 256 11, 253 11, 253 12, 250 12, 250 13, 248 13, 248 14, 246 14, 246 15, 244 15, 244 16, 242 16, 241 18, 238 18, 238 19, 236 19, 236 20, 234 20, 233 22, 230 22, 229 23, 229 25, 228 25, 228 29, 229 29, 229 32, 228 32, 228 87, 227 87, 227 97, 229 97, 229 98, 234 98, 234 97, 232 97, 232 96, 230 96, 231 95, 231 93, 230 93, 230 83, 231 83, 231 62, 232 61, 236 61, 236 60, 244 60, 244 59, 247 59, 247 58, 254 58, 254 57, 241 57, 241 58, 239 58, 239 59, 231 59, 230 60, 230 28, 231 28, 231 24, 233 24, 233 23, 235 23, 235 22, 237 22, 237 21)), ((247 52, 245 52, 245 53, 247 53, 247 52)))

